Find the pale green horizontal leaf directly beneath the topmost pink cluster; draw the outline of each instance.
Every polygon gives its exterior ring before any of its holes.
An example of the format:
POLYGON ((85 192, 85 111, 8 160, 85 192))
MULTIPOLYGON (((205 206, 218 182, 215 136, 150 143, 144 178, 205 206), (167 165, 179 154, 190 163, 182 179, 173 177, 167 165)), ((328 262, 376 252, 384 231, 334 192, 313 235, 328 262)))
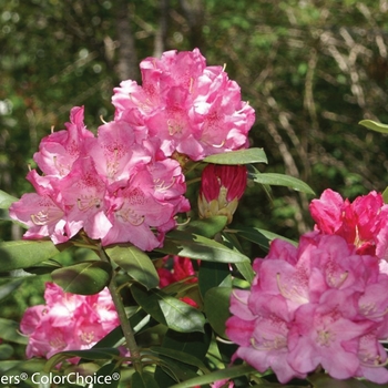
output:
POLYGON ((214 164, 268 163, 264 150, 255 147, 206 156, 203 161, 214 164))

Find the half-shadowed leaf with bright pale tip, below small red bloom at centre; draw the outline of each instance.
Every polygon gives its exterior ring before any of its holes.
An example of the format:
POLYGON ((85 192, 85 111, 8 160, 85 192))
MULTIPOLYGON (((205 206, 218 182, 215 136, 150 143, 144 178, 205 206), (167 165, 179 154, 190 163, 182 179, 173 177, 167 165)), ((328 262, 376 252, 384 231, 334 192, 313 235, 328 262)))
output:
POLYGON ((204 315, 184 302, 160 289, 146 290, 134 284, 132 296, 136 303, 159 323, 180 333, 203 331, 204 315))

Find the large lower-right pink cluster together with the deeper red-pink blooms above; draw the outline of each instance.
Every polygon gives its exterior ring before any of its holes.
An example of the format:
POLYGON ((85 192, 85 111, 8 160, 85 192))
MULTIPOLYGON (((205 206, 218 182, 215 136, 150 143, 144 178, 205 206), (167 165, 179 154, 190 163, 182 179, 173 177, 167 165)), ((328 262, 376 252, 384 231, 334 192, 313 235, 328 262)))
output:
POLYGON ((268 255, 254 261, 251 290, 235 289, 231 298, 226 334, 239 346, 235 357, 262 372, 272 368, 280 382, 317 367, 337 379, 388 381, 381 345, 388 274, 372 249, 376 244, 385 257, 376 235, 387 224, 379 218, 386 207, 378 198, 370 193, 348 204, 326 192, 310 207, 317 231, 297 247, 275 239, 268 255))

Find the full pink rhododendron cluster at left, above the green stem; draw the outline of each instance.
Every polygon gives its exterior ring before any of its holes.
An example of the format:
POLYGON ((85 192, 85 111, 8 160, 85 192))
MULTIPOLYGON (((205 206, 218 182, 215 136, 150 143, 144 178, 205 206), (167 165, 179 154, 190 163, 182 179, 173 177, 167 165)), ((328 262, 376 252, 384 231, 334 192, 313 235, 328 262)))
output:
POLYGON ((13 203, 10 216, 30 227, 24 238, 59 244, 83 229, 103 245, 160 247, 175 215, 190 211, 181 165, 160 145, 126 121, 105 123, 94 136, 75 106, 67 130, 42 140, 35 161, 44 175, 28 174, 37 193, 13 203))

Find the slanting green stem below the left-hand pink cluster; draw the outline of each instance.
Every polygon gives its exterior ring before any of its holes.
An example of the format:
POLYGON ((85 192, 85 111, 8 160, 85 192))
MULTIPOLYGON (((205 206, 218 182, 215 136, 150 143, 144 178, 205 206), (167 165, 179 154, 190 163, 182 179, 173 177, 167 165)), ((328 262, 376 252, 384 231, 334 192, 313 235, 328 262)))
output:
MULTIPOLYGON (((108 257, 103 247, 100 246, 99 252, 100 252, 100 258, 103 262, 110 263, 110 258, 108 257)), ((118 287, 115 284, 115 273, 114 272, 113 272, 112 279, 109 283, 108 287, 109 287, 109 290, 111 293, 114 307, 115 307, 118 315, 119 315, 120 326, 121 326, 123 334, 124 334, 126 347, 130 350, 131 358, 133 359, 133 366, 134 366, 135 370, 141 374, 142 372, 142 363, 141 363, 140 349, 139 349, 137 343, 135 340, 135 334, 133 331, 131 323, 130 323, 129 318, 126 317, 123 300, 121 298, 120 292, 118 290, 118 287)))

